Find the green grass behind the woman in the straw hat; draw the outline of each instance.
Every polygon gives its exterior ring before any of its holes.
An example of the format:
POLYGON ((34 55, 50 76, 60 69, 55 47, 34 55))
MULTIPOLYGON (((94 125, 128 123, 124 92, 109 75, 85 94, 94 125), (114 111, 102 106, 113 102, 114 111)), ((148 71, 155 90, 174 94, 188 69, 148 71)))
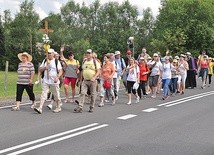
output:
MULTIPOLYGON (((36 79, 37 75, 34 76, 36 79)), ((8 72, 7 87, 5 89, 5 72, 0 71, 0 99, 16 97, 16 81, 17 72, 8 72)), ((38 94, 41 92, 41 86, 34 85, 34 93, 38 94)), ((26 95, 26 91, 24 92, 26 95)))

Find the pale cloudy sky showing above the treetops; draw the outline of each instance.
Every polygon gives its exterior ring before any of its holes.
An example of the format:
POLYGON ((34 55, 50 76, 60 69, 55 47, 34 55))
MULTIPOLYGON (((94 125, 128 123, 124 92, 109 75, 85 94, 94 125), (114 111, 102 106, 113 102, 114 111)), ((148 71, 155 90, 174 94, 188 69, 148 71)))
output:
MULTIPOLYGON (((19 12, 19 6, 24 0, 0 0, 0 13, 6 9, 11 10, 12 16, 19 12)), ((50 12, 59 13, 60 7, 66 4, 69 0, 34 0, 34 7, 36 12, 39 14, 40 19, 48 16, 50 12)), ((74 0, 76 3, 82 4, 85 2, 86 5, 90 5, 94 0, 74 0)), ((117 1, 120 4, 124 0, 100 0, 101 4, 109 1, 117 1)), ((143 9, 150 7, 153 14, 158 14, 158 8, 160 7, 160 0, 129 0, 129 2, 138 7, 138 11, 141 13, 143 9)))

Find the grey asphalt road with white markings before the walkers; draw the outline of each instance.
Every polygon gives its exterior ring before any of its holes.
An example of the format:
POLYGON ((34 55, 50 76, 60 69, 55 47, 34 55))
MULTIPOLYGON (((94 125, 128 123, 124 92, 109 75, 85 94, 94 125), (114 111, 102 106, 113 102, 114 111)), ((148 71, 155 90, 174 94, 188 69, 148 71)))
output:
POLYGON ((94 113, 87 104, 73 113, 71 103, 61 113, 44 107, 37 114, 30 105, 19 112, 0 109, 0 154, 214 155, 213 100, 214 85, 132 105, 121 91, 116 105, 94 113))

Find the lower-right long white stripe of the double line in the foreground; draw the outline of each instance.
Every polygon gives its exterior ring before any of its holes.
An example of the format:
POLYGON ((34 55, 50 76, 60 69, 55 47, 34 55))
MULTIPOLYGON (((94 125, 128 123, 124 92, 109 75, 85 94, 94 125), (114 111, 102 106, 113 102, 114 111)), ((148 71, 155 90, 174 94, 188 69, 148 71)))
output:
POLYGON ((85 134, 87 132, 91 132, 91 131, 94 131, 94 130, 97 130, 97 129, 100 129, 100 128, 104 128, 104 127, 107 127, 107 126, 108 126, 108 124, 99 125, 99 126, 96 126, 96 127, 90 128, 90 129, 86 129, 86 130, 71 134, 71 135, 60 137, 60 138, 57 138, 57 139, 54 139, 54 140, 51 140, 51 141, 48 141, 48 142, 44 142, 44 143, 35 145, 35 146, 31 146, 31 147, 23 149, 23 150, 12 152, 12 153, 9 153, 8 155, 18 155, 18 154, 21 154, 21 153, 24 153, 24 152, 35 150, 37 148, 44 147, 44 146, 47 146, 47 145, 50 145, 50 144, 53 144, 53 143, 57 143, 57 142, 60 142, 60 141, 63 141, 63 140, 66 140, 66 139, 69 139, 69 138, 72 138, 72 137, 75 137, 75 136, 78 136, 78 135, 82 135, 82 134, 85 134))

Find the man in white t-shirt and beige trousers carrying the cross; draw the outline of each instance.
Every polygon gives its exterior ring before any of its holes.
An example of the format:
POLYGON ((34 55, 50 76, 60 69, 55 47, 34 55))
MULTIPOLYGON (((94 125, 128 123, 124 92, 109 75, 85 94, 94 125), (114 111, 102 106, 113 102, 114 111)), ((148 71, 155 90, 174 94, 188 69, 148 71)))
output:
POLYGON ((54 94, 55 102, 57 103, 56 109, 53 112, 60 112, 61 109, 61 98, 60 98, 60 88, 59 88, 59 78, 62 76, 62 65, 60 64, 59 60, 54 58, 54 49, 48 50, 48 58, 46 61, 44 60, 39 67, 40 72, 44 72, 44 78, 42 79, 42 94, 40 99, 40 105, 38 108, 34 108, 34 111, 42 114, 42 108, 47 99, 47 94, 49 89, 54 94))

